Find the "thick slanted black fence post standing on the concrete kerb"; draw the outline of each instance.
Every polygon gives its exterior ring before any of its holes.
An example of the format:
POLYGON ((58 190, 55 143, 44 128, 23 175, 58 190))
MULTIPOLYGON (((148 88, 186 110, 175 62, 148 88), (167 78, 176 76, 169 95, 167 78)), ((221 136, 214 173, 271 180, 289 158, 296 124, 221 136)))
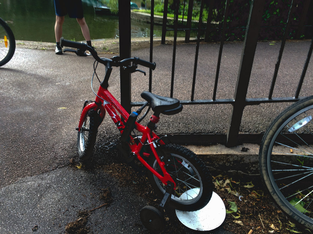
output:
POLYGON ((265 0, 254 0, 251 2, 247 31, 244 38, 244 48, 241 54, 237 84, 234 94, 235 101, 228 125, 227 147, 235 146, 238 143, 237 139, 239 135, 239 128, 244 107, 246 105, 246 95, 259 36, 264 2, 265 0))

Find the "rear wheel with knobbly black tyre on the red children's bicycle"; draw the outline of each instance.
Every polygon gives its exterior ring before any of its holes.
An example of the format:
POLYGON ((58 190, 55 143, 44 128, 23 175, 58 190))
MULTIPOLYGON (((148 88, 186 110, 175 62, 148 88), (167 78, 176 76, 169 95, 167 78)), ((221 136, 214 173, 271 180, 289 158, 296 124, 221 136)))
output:
MULTIPOLYGON (((210 172, 197 155, 175 144, 161 145, 156 150, 176 183, 170 205, 182 211, 195 211, 207 205, 212 197, 213 182, 210 172)), ((149 164, 163 175, 154 155, 150 155, 149 164)), ((164 195, 165 185, 150 171, 148 176, 154 191, 164 195)))

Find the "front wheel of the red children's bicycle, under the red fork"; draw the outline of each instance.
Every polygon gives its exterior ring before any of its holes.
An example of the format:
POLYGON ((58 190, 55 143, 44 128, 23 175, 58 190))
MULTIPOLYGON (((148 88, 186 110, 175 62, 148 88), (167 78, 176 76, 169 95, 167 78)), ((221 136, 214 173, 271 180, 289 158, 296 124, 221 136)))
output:
MULTIPOLYGON (((86 102, 84 107, 90 102, 86 102)), ((80 161, 87 165, 91 163, 93 158, 99 123, 98 112, 90 110, 77 134, 78 156, 80 161)))

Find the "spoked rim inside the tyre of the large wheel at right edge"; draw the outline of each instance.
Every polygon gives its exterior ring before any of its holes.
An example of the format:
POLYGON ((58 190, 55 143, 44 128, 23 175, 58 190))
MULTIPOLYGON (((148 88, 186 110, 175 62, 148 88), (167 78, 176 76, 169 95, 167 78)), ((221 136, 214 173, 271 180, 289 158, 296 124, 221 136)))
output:
POLYGON ((310 223, 313 223, 312 117, 310 105, 286 119, 275 132, 267 157, 270 182, 280 200, 310 223))

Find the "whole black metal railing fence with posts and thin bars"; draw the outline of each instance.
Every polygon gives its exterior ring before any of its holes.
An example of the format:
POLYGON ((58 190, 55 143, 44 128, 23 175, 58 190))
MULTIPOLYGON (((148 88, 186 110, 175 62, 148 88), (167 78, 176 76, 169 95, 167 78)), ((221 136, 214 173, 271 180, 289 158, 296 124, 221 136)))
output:
MULTIPOLYGON (((127 4, 125 1, 119 1, 121 4, 119 4, 119 12, 120 12, 120 56, 122 58, 129 57, 131 55, 131 38, 130 38, 130 2, 127 1, 127 4)), ((305 37, 312 37, 313 27, 312 22, 308 24, 308 19, 310 19, 310 15, 312 15, 313 12, 311 12, 311 1, 310 0, 286 0, 285 5, 289 7, 289 10, 286 11, 285 14, 287 15, 281 15, 280 17, 285 20, 281 20, 284 22, 280 22, 280 25, 271 25, 270 22, 266 22, 264 24, 264 16, 266 19, 266 12, 264 12, 264 6, 268 7, 268 4, 273 4, 275 1, 267 1, 267 0, 253 0, 253 1, 246 1, 245 8, 249 9, 249 15, 246 19, 246 26, 244 27, 233 27, 235 31, 237 32, 244 32, 244 48, 241 55, 241 61, 239 65, 239 71, 237 76, 237 83, 235 88, 235 93, 233 96, 233 99, 216 99, 216 92, 217 92, 217 85, 219 80, 219 70, 221 66, 221 57, 223 52, 223 46, 224 42, 229 38, 227 35, 233 35, 234 33, 229 32, 230 31, 230 24, 228 24, 228 19, 231 14, 232 9, 230 8, 231 3, 236 2, 233 0, 226 0, 225 5, 223 6, 222 10, 219 12, 223 12, 222 20, 219 24, 221 27, 214 28, 214 24, 210 23, 213 20, 214 12, 217 12, 217 9, 214 8, 214 4, 220 2, 220 1, 204 1, 202 0, 199 4, 198 8, 198 27, 192 28, 192 11, 194 11, 193 3, 194 1, 188 2, 188 12, 187 12, 187 20, 185 24, 179 24, 178 23, 178 9, 181 2, 179 0, 174 0, 173 5, 174 11, 175 11, 175 17, 174 17, 174 24, 171 26, 167 25, 167 6, 168 6, 168 0, 164 1, 164 13, 163 13, 163 30, 162 30, 162 43, 165 42, 165 35, 167 31, 174 31, 174 42, 173 42, 173 57, 172 57, 172 80, 171 80, 171 97, 173 96, 173 89, 174 89, 174 74, 175 74, 175 55, 176 55, 176 47, 177 47, 177 32, 179 30, 184 30, 186 32, 185 41, 190 41, 190 32, 192 30, 197 31, 197 39, 196 39, 196 54, 195 54, 195 61, 194 61, 194 69, 193 69, 193 82, 192 82, 192 91, 191 91, 191 98, 190 100, 181 100, 181 103, 183 105, 208 105, 208 104, 231 104, 233 106, 232 113, 229 118, 229 124, 228 124, 228 130, 225 137, 220 136, 217 137, 214 135, 214 141, 220 141, 220 143, 227 144, 227 146, 234 146, 239 143, 239 139, 241 142, 249 142, 248 139, 251 140, 251 137, 248 135, 245 135, 246 139, 243 139, 243 137, 239 136, 239 128, 244 112, 244 108, 247 105, 258 105, 260 103, 274 103, 274 102, 294 102, 299 100, 299 94, 302 87, 302 83, 309 65, 310 57, 312 54, 313 49, 313 39, 311 40, 310 49, 307 53, 307 58, 305 61, 305 64, 303 65, 302 75, 300 77, 300 80, 298 82, 298 87, 294 91, 295 95, 291 97, 280 97, 280 98, 274 98, 273 90, 275 87, 275 82, 277 78, 277 74, 280 68, 280 62, 282 59, 282 53, 284 51, 285 42, 288 38, 293 37, 294 39, 298 39, 300 37, 303 37, 305 34, 305 37), (249 4, 249 5, 247 5, 249 4), (206 10, 208 12, 208 17, 206 19, 207 23, 203 24, 203 10, 206 10), (297 18, 297 23, 294 23, 294 20, 297 18), (203 27, 203 25, 206 25, 203 27), (283 31, 281 39, 281 47, 279 56, 277 59, 277 63, 275 65, 275 72, 272 78, 272 84, 270 86, 269 95, 264 98, 247 98, 247 90, 249 85, 249 79, 251 75, 251 70, 253 66, 253 60, 255 55, 255 50, 257 46, 257 42, 260 39, 261 34, 260 32, 264 29, 268 31, 268 28, 280 28, 280 30, 283 31), (239 30, 238 30, 239 29, 239 30), (217 69, 216 69, 216 76, 215 76, 215 83, 214 83, 214 91, 212 99, 207 100, 195 100, 194 99, 194 91, 195 91, 195 82, 197 78, 197 66, 198 66, 198 53, 199 53, 199 45, 201 41, 210 41, 213 36, 212 32, 218 32, 220 35, 220 48, 219 48, 219 55, 218 55, 218 62, 217 62, 217 69), (310 34, 311 33, 311 34, 310 34)), ((186 1, 183 2, 186 4, 186 1)), ((248 13, 247 13, 248 14, 248 13)), ((216 17, 216 16, 215 16, 216 17)), ((151 33, 150 33, 150 61, 152 61, 152 55, 153 55, 153 18, 154 18, 154 0, 151 0, 151 33)), ((194 22, 193 22, 194 25, 194 22)), ((263 35, 263 34, 262 34, 263 35)), ((266 34, 265 34, 266 35, 266 34)), ((216 34, 214 36, 216 38, 216 34)), ((235 35, 235 38, 239 39, 238 35, 235 35)), ((131 106, 138 106, 141 103, 139 102, 132 102, 131 101, 131 79, 130 75, 127 73, 123 73, 124 71, 121 70, 121 79, 123 79, 123 85, 121 85, 121 103, 126 108, 126 110, 130 111, 131 106), (125 80, 129 80, 128 83, 125 83, 125 80)), ((150 79, 149 79, 149 91, 151 91, 151 76, 152 72, 150 71, 150 79)), ((122 83, 122 82, 121 82, 122 83)), ((201 138, 203 138, 203 134, 201 135, 201 138)), ((260 138, 260 136, 259 136, 260 138)), ((259 140, 258 138, 258 140, 259 140)), ((180 140, 183 142, 183 137, 177 137, 178 141, 180 140)), ((194 136, 194 139, 197 140, 197 137, 194 136)), ((212 140, 209 139, 208 136, 208 142, 212 140)))

